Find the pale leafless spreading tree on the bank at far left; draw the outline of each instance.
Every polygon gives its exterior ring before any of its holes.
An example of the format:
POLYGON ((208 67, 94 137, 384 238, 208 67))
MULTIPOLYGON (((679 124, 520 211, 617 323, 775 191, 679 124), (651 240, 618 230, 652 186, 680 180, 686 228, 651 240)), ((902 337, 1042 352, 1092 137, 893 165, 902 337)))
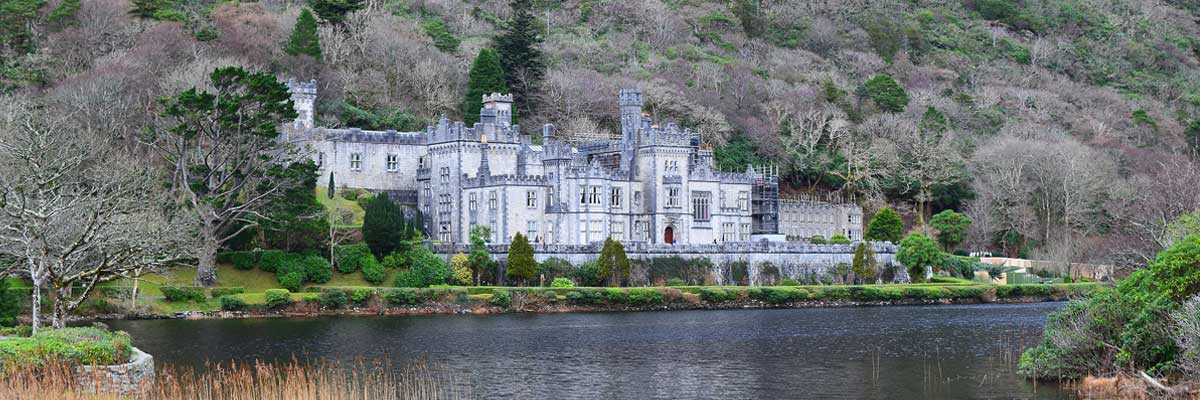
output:
POLYGON ((170 220, 154 169, 113 138, 66 117, 10 102, 0 126, 0 255, 34 282, 34 329, 49 286, 52 326, 62 328, 96 283, 128 277, 186 253, 186 221, 170 220))

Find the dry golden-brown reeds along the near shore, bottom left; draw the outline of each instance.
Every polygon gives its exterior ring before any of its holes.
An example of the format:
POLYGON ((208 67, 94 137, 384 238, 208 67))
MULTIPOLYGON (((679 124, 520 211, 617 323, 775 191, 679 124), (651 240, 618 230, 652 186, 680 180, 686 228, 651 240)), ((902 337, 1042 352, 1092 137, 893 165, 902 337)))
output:
MULTIPOLYGON (((284 364, 247 363, 167 366, 155 380, 132 392, 82 387, 70 364, 12 369, 0 374, 5 399, 197 399, 197 400, 342 400, 342 399, 461 399, 449 370, 425 362, 395 368, 388 362, 284 364)), ((98 382, 101 380, 90 380, 98 382)))

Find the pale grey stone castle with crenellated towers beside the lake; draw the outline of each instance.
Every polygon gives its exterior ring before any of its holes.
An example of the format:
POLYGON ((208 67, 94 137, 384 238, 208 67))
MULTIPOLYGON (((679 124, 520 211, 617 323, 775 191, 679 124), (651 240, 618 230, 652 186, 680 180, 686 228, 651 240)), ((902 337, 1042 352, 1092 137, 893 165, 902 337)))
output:
POLYGON ((415 204, 442 243, 469 241, 474 226, 488 227, 494 244, 516 233, 544 245, 748 243, 810 232, 862 239, 860 208, 781 203, 772 169, 716 169, 698 132, 643 114, 637 89, 619 92, 619 141, 575 147, 553 125, 541 129, 540 144, 521 135, 511 95, 485 95, 474 126, 443 115, 418 132, 364 131, 316 127, 316 80, 288 85, 299 114, 288 135, 308 145, 322 177, 415 204), (780 216, 804 228, 781 229, 780 216))

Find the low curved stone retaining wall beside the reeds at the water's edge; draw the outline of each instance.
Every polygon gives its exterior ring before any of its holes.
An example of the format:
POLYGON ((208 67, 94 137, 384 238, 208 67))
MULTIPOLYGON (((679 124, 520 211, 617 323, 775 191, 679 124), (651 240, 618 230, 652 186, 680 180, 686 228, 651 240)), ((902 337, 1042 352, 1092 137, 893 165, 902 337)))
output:
POLYGON ((77 366, 74 378, 77 387, 88 393, 133 396, 154 384, 154 357, 133 347, 128 363, 77 366))

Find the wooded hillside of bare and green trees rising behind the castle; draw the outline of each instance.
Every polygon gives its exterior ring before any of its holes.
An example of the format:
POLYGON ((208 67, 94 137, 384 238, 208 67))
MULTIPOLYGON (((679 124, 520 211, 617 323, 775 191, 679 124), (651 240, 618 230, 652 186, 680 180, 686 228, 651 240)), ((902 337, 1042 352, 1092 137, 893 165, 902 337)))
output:
POLYGON ((161 96, 238 65, 317 79, 320 125, 416 130, 470 112, 496 48, 526 131, 618 132, 640 86, 785 192, 910 226, 956 209, 970 249, 1141 263, 1200 207, 1198 19, 1194 0, 0 0, 0 90, 136 148, 161 96))

